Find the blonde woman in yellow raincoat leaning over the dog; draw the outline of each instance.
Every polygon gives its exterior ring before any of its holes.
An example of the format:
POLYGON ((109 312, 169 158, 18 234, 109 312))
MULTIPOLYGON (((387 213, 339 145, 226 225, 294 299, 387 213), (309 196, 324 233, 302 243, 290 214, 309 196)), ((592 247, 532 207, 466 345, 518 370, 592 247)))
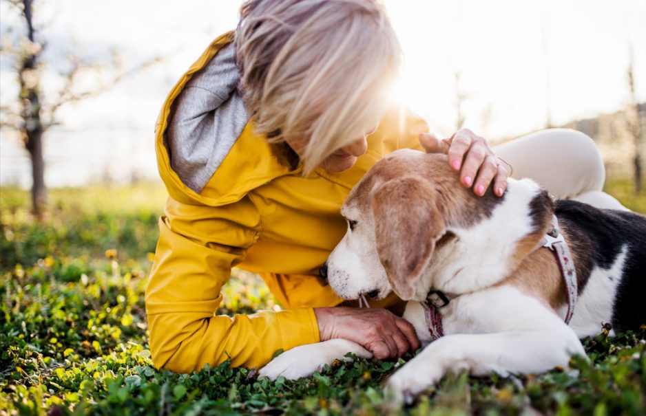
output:
MULTIPOLYGON (((404 147, 448 153, 477 195, 489 186, 503 195, 508 173, 474 133, 440 141, 388 105, 399 60, 376 1, 251 0, 237 30, 179 80, 156 125, 169 191, 146 293, 156 366, 262 366, 278 349, 331 338, 376 358, 419 347, 410 324, 384 309, 401 303, 396 296, 337 307, 317 276, 346 230, 342 201, 404 147), (234 266, 260 274, 286 309, 214 316, 234 266)), ((581 133, 541 132, 496 153, 559 197, 615 203, 600 192, 603 164, 581 133)))

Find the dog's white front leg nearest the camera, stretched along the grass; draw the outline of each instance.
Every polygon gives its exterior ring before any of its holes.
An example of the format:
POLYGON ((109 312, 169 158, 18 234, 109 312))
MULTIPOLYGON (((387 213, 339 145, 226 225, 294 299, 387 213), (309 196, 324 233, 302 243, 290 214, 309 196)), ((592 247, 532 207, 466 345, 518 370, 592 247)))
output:
POLYGON ((402 402, 439 382, 448 371, 472 375, 541 373, 567 369, 571 355, 584 355, 583 345, 564 323, 553 332, 508 331, 456 334, 431 343, 388 380, 390 398, 402 402))

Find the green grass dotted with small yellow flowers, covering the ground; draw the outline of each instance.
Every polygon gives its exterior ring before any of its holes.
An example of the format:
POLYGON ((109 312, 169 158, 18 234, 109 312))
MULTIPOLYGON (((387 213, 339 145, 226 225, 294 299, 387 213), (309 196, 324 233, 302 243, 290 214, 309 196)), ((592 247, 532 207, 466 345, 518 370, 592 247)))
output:
MULTIPOLYGON (((625 182, 609 191, 646 212, 625 182)), ((177 375, 147 349, 143 293, 165 193, 158 186, 52 190, 41 223, 23 191, 0 190, 0 414, 381 415, 382 382, 399 361, 335 363, 291 382, 228 364, 177 375)), ((237 272, 220 314, 274 307, 267 287, 237 272)), ((579 376, 449 375, 410 415, 646 414, 646 330, 585 340, 579 376)))

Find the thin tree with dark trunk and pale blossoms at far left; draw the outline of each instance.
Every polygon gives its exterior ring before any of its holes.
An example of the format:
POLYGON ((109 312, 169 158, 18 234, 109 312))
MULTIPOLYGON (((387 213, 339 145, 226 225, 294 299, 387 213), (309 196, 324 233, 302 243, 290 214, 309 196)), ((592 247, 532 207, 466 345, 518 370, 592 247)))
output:
POLYGON ((2 36, 3 44, 0 47, 0 52, 13 56, 20 89, 17 105, 2 105, 0 107, 0 127, 17 131, 30 155, 33 179, 32 212, 39 216, 47 204, 43 137, 48 129, 60 124, 56 118, 59 109, 71 102, 78 102, 84 98, 101 94, 125 78, 158 63, 160 58, 156 56, 137 67, 123 71, 118 68, 118 55, 115 53, 110 65, 118 69, 118 74, 107 83, 94 85, 92 89, 79 90, 78 80, 81 74, 98 73, 106 64, 79 54, 70 54, 67 56, 67 69, 59 74, 63 78, 63 87, 57 94, 54 94, 54 98, 46 97, 41 88, 43 52, 46 42, 42 39, 42 30, 37 28, 34 23, 34 0, 7 1, 20 11, 25 34, 19 36, 19 39, 15 39, 15 36, 8 36, 10 34, 2 36))

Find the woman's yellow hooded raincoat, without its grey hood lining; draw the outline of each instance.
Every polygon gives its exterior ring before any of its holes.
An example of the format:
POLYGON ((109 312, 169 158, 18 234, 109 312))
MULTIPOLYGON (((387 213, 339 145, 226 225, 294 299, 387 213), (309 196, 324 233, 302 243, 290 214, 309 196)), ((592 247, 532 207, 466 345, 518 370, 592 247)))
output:
MULTIPOLYGON (((179 373, 227 358, 232 366, 263 366, 278 349, 318 342, 313 307, 340 303, 317 274, 346 232, 341 204, 380 157, 419 149, 418 135, 428 130, 420 118, 393 109, 353 168, 317 168, 303 177, 302 168, 281 164, 247 122, 196 193, 171 168, 164 132, 180 91, 231 40, 229 33, 209 45, 171 90, 156 124, 158 168, 169 198, 145 301, 153 362, 179 373), (285 310, 216 316, 220 288, 234 266, 260 274, 285 310)), ((377 306, 397 300, 391 295, 377 306)))

